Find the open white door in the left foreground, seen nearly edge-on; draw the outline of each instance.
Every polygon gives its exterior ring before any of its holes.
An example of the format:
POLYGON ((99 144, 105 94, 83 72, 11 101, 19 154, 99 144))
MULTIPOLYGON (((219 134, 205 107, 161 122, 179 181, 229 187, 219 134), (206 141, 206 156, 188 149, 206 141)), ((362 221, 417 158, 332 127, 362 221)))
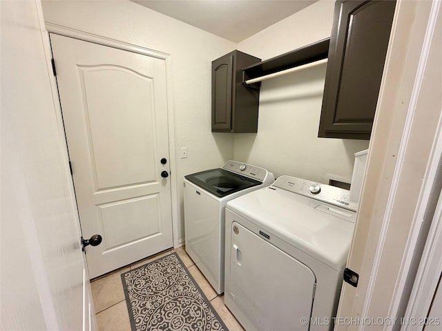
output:
POLYGON ((41 3, 0 2, 0 329, 96 330, 41 3))

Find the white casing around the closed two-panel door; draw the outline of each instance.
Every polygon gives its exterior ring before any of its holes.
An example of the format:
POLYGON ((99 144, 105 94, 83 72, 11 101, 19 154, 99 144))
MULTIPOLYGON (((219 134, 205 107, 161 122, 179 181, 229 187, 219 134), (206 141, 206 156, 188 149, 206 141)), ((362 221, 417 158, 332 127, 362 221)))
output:
MULTIPOLYGON (((123 41, 119 41, 117 39, 111 39, 108 37, 102 37, 97 34, 92 34, 89 32, 84 32, 72 28, 66 28, 65 26, 59 26, 57 24, 45 22, 46 30, 49 33, 60 34, 64 37, 70 37, 75 39, 80 39, 83 41, 89 41, 91 43, 97 43, 99 45, 108 46, 112 48, 117 48, 119 50, 126 50, 128 52, 134 52, 137 54, 143 54, 148 57, 154 57, 156 59, 162 59, 166 65, 166 88, 167 88, 167 124, 168 124, 168 136, 169 136, 169 162, 170 162, 170 173, 177 174, 176 169, 176 160, 175 160, 175 124, 174 124, 174 116, 173 116, 173 93, 172 93, 172 75, 171 75, 171 54, 166 52, 160 52, 157 50, 151 50, 150 48, 144 48, 142 46, 137 46, 132 43, 126 43, 123 41)), ((49 39, 49 33, 47 37, 49 39)), ((55 83, 55 79, 53 80, 55 83)), ((55 90, 58 100, 58 92, 55 90)), ((61 108, 57 103, 57 111, 61 116, 61 108)), ((63 122, 61 121, 61 128, 64 128, 63 122)), ((68 145, 65 141, 66 150, 68 150, 68 145)), ((177 201, 178 197, 178 187, 177 187, 177 179, 175 179, 172 175, 173 180, 171 180, 171 212, 172 212, 172 238, 173 238, 173 247, 178 248, 182 243, 180 243, 180 239, 178 238, 178 219, 179 212, 177 206, 179 205, 177 201)))

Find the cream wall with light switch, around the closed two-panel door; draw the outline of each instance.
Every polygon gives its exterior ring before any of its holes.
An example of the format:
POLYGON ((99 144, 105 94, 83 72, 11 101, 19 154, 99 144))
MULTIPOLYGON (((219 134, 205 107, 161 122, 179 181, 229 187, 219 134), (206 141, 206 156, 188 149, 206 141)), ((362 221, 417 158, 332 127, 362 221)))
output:
POLYGON ((184 238, 184 175, 217 168, 233 157, 233 135, 211 133, 211 61, 236 44, 131 1, 43 1, 43 9, 46 22, 171 54, 169 125, 176 160, 171 178, 178 189, 178 237, 184 238), (187 159, 180 159, 181 147, 188 148, 187 159))

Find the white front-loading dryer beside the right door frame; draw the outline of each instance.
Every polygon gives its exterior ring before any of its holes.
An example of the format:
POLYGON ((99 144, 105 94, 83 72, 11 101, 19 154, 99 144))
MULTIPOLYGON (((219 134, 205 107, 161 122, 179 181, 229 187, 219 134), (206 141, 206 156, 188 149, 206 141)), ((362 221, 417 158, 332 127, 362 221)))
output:
POLYGON ((227 203, 224 303, 247 331, 333 330, 357 207, 289 176, 227 203))

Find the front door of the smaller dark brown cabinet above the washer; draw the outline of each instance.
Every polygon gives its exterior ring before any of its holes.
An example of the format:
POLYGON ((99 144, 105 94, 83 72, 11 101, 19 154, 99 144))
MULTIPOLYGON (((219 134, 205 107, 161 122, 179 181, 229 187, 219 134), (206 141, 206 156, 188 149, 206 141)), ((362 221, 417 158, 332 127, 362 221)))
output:
POLYGON ((231 129, 233 54, 212 62, 212 130, 231 129))

